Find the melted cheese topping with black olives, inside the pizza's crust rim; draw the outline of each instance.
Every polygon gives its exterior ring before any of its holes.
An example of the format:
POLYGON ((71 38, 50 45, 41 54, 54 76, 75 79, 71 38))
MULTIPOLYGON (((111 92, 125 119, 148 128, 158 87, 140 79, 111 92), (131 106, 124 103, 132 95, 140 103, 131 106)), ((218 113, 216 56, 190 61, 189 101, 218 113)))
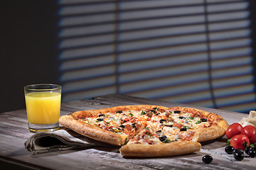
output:
MULTIPOLYGON (((173 111, 157 112, 146 115, 144 111, 123 111, 122 113, 105 113, 82 119, 83 122, 115 132, 122 137, 134 134, 128 144, 142 143, 145 145, 164 144, 178 140, 191 140, 196 130, 211 125, 210 121, 202 121, 192 113, 173 113, 173 111), (103 120, 102 120, 103 119, 103 120), (146 121, 146 128, 137 135, 134 123, 141 125, 146 121), (124 127, 130 127, 125 134, 124 127)), ((125 139, 125 138, 124 138, 125 139)))

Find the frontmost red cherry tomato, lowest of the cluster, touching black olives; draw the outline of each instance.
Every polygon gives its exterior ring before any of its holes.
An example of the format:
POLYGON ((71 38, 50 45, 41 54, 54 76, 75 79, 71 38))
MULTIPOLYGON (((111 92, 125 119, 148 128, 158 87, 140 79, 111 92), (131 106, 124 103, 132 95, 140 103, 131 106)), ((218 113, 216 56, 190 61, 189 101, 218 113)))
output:
POLYGON ((235 149, 245 149, 246 147, 249 147, 250 140, 246 135, 235 135, 230 140, 230 145, 234 147, 235 149))

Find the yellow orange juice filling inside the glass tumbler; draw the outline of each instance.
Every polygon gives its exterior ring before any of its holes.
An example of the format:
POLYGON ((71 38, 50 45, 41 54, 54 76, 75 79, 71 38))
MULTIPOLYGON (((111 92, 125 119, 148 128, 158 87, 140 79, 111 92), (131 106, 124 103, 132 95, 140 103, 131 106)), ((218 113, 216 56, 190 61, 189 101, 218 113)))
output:
POLYGON ((25 95, 28 123, 45 125, 58 123, 61 94, 53 91, 32 92, 25 95))

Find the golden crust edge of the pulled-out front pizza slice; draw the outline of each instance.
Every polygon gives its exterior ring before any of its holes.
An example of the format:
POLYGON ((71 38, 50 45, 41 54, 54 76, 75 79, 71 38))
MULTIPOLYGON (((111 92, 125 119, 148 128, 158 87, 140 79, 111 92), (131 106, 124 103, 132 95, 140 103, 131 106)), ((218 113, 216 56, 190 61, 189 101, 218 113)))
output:
POLYGON ((163 145, 123 145, 119 151, 124 157, 171 157, 198 152, 201 144, 193 141, 171 142, 163 145))

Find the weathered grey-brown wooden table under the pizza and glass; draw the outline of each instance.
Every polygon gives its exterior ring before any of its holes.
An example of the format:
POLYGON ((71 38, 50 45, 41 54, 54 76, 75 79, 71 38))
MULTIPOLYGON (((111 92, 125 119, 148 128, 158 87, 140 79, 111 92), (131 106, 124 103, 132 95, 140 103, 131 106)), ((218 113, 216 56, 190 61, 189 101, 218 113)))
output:
MULTIPOLYGON (((160 106, 188 106, 178 103, 156 101, 124 95, 107 95, 95 97, 93 100, 71 101, 61 104, 61 115, 75 111, 97 108, 109 108, 120 105, 156 104, 160 106)), ((242 113, 220 111, 213 108, 203 108, 217 113, 229 124, 238 122, 242 113)), ((12 111, 0 114, 0 167, 14 166, 16 169, 256 169, 256 158, 245 157, 241 162, 233 156, 225 154, 226 137, 216 142, 202 146, 200 152, 179 157, 164 157, 152 159, 125 159, 119 154, 118 148, 97 148, 84 150, 69 150, 46 154, 31 154, 24 148, 24 142, 33 133, 28 131, 26 110, 12 111), (202 162, 203 155, 213 157, 211 164, 202 162)))

